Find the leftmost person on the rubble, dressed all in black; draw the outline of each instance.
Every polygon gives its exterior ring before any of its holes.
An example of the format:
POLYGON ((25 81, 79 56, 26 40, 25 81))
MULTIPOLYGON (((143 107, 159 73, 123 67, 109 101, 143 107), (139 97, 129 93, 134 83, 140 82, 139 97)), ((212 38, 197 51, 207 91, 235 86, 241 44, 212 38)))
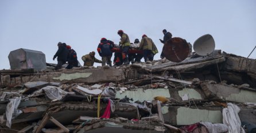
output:
POLYGON ((58 64, 55 67, 55 70, 60 69, 63 64, 66 63, 68 57, 68 49, 66 48, 67 44, 59 42, 57 45, 59 48, 55 55, 53 56, 53 60, 57 57, 58 64))

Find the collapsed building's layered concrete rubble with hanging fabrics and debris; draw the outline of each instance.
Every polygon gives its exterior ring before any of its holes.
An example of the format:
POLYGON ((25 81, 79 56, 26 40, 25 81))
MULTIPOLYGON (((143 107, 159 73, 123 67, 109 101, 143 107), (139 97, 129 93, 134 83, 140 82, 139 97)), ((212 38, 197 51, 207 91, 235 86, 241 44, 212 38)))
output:
POLYGON ((0 132, 256 130, 256 60, 225 52, 0 75, 0 132))

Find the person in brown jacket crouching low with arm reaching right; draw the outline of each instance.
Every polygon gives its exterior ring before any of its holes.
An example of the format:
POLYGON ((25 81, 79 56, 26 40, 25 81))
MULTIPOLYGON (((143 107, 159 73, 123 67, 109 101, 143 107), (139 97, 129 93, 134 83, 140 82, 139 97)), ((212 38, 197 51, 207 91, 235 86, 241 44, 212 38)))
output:
POLYGON ((94 51, 82 56, 82 60, 84 61, 84 66, 88 66, 88 67, 93 66, 94 62, 102 63, 101 60, 98 60, 97 58, 95 58, 94 51))

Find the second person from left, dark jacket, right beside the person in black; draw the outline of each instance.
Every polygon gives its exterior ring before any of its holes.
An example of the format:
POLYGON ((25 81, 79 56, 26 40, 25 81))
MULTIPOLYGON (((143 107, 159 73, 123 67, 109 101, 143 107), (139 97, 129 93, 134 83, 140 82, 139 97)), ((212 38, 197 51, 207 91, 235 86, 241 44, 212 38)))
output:
POLYGON ((68 49, 68 66, 66 69, 72 69, 73 67, 78 67, 77 54, 76 51, 71 49, 71 46, 67 45, 68 49))

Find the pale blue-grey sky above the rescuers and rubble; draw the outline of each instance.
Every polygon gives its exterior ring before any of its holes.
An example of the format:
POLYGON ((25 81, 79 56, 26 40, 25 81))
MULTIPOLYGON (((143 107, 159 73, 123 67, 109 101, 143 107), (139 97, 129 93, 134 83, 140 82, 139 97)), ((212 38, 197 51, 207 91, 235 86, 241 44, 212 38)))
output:
POLYGON ((211 34, 215 49, 247 57, 256 45, 256 1, 0 0, 0 69, 10 68, 8 55, 20 48, 39 50, 46 62, 57 63, 52 58, 59 41, 71 45, 83 64, 81 57, 96 52, 100 38, 118 44, 119 29, 131 42, 146 34, 160 53, 162 29, 191 44, 211 34))

